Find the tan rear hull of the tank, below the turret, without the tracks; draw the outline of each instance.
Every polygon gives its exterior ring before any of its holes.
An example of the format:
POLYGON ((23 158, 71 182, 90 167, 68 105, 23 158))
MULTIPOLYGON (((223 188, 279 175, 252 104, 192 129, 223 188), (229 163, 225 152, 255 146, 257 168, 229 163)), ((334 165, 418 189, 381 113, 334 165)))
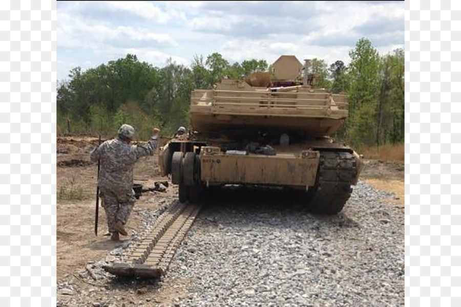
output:
POLYGON ((172 140, 160 150, 159 164, 163 176, 172 172, 173 152, 194 152, 197 184, 256 184, 308 189, 318 181, 324 152, 344 152, 353 157, 357 170, 350 179, 357 183, 361 161, 357 153, 342 143, 319 138, 294 145, 274 145, 275 155, 260 155, 246 150, 223 149, 227 142, 207 140, 172 140))

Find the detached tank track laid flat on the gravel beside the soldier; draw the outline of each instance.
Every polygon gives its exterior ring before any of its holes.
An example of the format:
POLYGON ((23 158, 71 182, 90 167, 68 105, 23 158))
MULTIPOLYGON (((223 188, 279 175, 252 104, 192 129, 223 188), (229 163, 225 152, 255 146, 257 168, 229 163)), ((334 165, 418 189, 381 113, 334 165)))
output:
POLYGON ((199 211, 198 205, 176 202, 157 218, 151 230, 121 262, 103 266, 103 269, 118 276, 163 275, 199 211))

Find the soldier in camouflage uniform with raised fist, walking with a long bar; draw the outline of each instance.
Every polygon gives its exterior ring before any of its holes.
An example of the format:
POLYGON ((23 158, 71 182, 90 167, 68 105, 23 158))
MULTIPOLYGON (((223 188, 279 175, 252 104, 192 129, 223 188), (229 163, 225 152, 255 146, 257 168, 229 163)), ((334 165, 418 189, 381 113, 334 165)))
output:
POLYGON ((112 240, 119 240, 119 234, 128 235, 124 228, 136 201, 133 191, 133 166, 144 156, 154 155, 158 146, 160 130, 155 128, 149 142, 130 145, 135 130, 123 124, 118 137, 108 140, 90 153, 91 161, 100 160, 99 196, 106 211, 107 224, 112 240))

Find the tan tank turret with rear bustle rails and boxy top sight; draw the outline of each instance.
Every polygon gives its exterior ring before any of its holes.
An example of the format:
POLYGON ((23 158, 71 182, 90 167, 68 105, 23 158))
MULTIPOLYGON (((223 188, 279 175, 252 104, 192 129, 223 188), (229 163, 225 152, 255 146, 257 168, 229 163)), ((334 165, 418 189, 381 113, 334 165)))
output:
POLYGON ((272 65, 271 79, 257 73, 246 81, 223 79, 213 90, 193 91, 192 128, 201 133, 273 129, 303 137, 332 135, 348 115, 347 97, 313 87, 308 63, 282 55, 272 65))

